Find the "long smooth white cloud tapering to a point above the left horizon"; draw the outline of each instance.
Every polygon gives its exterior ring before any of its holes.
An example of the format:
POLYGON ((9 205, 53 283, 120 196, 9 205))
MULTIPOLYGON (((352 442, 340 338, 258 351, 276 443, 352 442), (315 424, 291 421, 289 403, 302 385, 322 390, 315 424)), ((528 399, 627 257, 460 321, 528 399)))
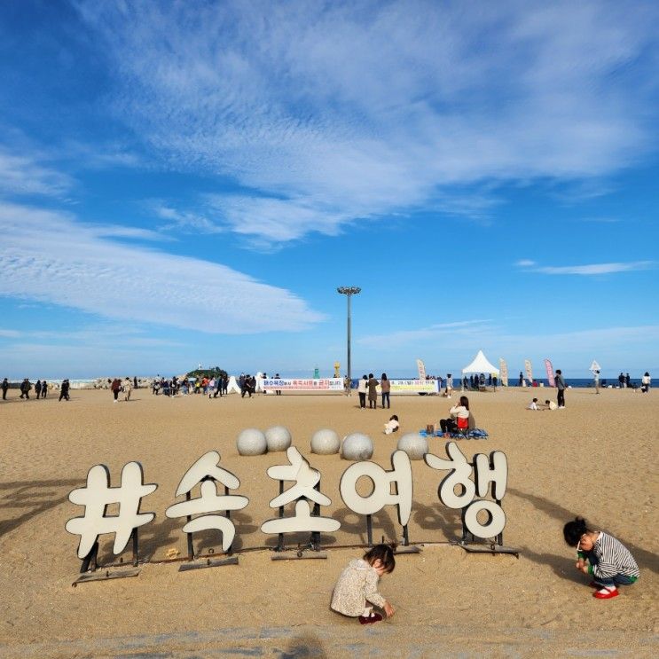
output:
POLYGON ((0 294, 208 333, 296 331, 322 319, 285 289, 218 263, 105 239, 108 227, 62 213, 0 204, 0 222, 0 294))

